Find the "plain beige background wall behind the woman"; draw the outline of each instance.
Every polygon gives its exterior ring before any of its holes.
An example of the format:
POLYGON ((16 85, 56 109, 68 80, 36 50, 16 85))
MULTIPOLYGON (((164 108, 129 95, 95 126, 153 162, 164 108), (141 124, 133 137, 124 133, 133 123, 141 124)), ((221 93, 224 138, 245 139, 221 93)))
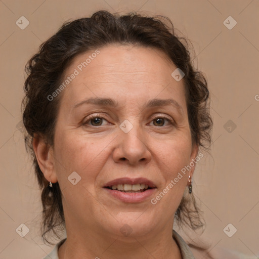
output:
POLYGON ((166 15, 191 40, 196 66, 208 80, 214 121, 210 155, 194 175, 193 190, 207 224, 201 238, 211 252, 226 247, 257 258, 259 2, 251 0, 0 1, 0 258, 41 258, 52 250, 39 236, 40 193, 19 124, 24 66, 64 21, 100 9, 166 15), (21 16, 29 21, 24 30, 16 25, 21 16), (237 21, 231 30, 223 23, 229 16, 237 21), (16 232, 22 223, 30 230, 25 237, 16 232), (229 223, 237 229, 232 237, 223 232, 229 223))

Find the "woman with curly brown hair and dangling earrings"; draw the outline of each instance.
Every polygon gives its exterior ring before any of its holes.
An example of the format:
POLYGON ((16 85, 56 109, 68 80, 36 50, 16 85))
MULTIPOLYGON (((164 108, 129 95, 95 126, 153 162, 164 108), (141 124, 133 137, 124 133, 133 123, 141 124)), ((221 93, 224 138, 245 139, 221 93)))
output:
POLYGON ((99 11, 29 60, 23 121, 42 237, 67 234, 52 259, 194 258, 172 228, 203 226, 192 178, 212 121, 181 39, 158 18, 99 11))

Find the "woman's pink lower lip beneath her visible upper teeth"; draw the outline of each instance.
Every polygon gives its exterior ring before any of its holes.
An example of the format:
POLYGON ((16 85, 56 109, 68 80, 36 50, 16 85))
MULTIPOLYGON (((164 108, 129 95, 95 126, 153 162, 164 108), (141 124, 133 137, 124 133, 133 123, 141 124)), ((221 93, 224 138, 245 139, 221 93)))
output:
POLYGON ((113 197, 128 203, 141 202, 150 197, 156 190, 156 188, 147 189, 144 192, 120 192, 117 190, 111 190, 104 188, 113 197))

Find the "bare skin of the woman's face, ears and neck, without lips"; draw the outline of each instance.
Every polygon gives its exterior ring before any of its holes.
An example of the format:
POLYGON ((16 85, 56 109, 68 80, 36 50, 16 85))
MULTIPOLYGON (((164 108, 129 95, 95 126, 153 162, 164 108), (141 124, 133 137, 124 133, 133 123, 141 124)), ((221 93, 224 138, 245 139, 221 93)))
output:
MULTIPOLYGON (((59 258, 179 259, 179 247, 171 236, 174 214, 195 166, 157 204, 150 200, 197 156, 184 81, 171 76, 176 66, 158 50, 119 45, 99 51, 60 94, 54 146, 34 140, 41 171, 48 181, 58 181, 62 191, 67 240, 59 258), (72 109, 90 97, 111 98, 118 105, 84 104, 72 109), (155 98, 174 99, 182 108, 144 107, 155 98), (89 121, 91 114, 103 119, 89 121), (164 120, 157 121, 157 115, 164 120), (124 120, 133 125, 128 133, 119 127, 124 120), (73 171, 81 177, 76 185, 68 181, 73 171), (121 177, 144 177, 157 189, 142 202, 125 203, 103 188, 121 177), (124 224, 131 228, 128 236, 120 231, 124 224)), ((64 78, 91 53, 77 56, 64 78)))

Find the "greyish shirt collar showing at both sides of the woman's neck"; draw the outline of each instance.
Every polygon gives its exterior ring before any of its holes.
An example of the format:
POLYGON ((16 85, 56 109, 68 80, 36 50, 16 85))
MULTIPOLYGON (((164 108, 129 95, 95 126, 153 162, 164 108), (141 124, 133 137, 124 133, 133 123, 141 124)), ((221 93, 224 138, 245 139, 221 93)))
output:
MULTIPOLYGON (((172 230, 172 232, 174 233, 172 237, 175 239, 176 243, 180 248, 182 259, 195 259, 195 257, 193 256, 190 250, 190 247, 187 245, 184 239, 175 230, 172 230)), ((42 259, 59 259, 58 249, 65 241, 66 241, 66 238, 58 242, 53 248, 53 250, 42 259)))

